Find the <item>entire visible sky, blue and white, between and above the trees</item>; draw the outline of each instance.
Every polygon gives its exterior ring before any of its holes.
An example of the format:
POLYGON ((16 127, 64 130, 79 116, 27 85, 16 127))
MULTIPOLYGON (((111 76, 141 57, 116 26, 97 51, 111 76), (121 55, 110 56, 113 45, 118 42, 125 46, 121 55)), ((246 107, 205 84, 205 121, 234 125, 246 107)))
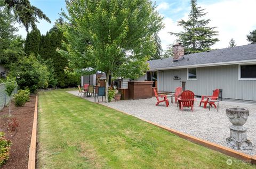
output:
MULTIPOLYGON (((162 48, 165 50, 170 44, 174 44, 177 37, 171 36, 168 32, 182 31, 177 26, 181 19, 187 20, 190 12, 190 0, 153 0, 157 5, 157 11, 163 16, 165 28, 159 31, 158 35, 162 41, 162 48)), ((50 30, 59 18, 61 8, 65 10, 65 0, 30 0, 31 5, 41 9, 52 21, 48 23, 40 20, 37 24, 42 34, 50 30)), ((211 19, 209 26, 217 27, 219 31, 218 41, 212 49, 226 48, 231 38, 237 46, 246 45, 246 35, 256 29, 255 6, 256 0, 198 0, 197 6, 201 6, 207 12, 205 19, 211 19)), ((18 26, 18 25, 17 25, 18 26)), ((18 34, 26 38, 25 28, 19 27, 18 34)))

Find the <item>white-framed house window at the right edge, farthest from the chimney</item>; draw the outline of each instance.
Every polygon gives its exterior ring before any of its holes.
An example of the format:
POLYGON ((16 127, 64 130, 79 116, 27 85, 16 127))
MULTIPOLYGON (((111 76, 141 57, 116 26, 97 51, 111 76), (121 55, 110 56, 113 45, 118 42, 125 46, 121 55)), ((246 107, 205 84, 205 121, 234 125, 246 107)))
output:
POLYGON ((241 80, 256 80, 256 64, 254 65, 240 65, 239 79, 241 80))

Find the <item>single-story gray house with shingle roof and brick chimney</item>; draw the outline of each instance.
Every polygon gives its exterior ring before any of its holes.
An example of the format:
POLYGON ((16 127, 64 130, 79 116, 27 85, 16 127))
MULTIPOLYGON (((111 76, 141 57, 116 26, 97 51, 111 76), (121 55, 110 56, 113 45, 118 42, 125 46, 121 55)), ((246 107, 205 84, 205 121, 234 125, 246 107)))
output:
POLYGON ((154 81, 158 91, 174 92, 186 81, 186 90, 197 96, 218 88, 222 98, 256 102, 256 44, 187 55, 176 44, 173 57, 148 63, 150 70, 137 81, 154 81))

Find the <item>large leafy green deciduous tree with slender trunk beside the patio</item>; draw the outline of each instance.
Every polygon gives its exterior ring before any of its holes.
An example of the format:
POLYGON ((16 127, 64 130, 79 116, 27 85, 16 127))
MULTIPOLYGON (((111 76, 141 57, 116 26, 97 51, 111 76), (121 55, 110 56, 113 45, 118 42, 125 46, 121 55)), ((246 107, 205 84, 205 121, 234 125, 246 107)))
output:
MULTIPOLYGON (((148 69, 147 60, 156 52, 152 40, 162 27, 162 17, 149 0, 66 1, 68 23, 61 29, 68 41, 59 50, 69 60, 67 71, 106 73, 137 78, 148 69), (87 68, 87 69, 84 69, 87 68), (90 69, 89 69, 90 68, 90 69)), ((106 99, 107 100, 107 99, 106 99)))

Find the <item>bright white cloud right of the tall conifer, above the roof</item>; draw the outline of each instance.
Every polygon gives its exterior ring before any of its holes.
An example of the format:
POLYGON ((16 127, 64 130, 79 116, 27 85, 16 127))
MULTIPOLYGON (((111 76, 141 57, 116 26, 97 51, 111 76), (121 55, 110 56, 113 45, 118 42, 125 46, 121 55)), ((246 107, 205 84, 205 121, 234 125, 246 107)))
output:
POLYGON ((256 29, 255 0, 223 1, 211 5, 198 4, 208 12, 206 18, 211 19, 210 26, 218 27, 219 42, 213 48, 228 47, 228 42, 234 38, 237 46, 246 45, 246 35, 256 29))

